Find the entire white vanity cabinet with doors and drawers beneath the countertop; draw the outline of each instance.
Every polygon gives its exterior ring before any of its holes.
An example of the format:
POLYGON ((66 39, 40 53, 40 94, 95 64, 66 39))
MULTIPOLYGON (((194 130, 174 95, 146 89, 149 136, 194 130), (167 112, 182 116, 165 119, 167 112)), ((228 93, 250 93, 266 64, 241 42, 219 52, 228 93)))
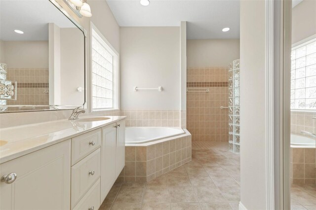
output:
POLYGON ((0 164, 0 210, 98 210, 125 165, 125 122, 0 164))

